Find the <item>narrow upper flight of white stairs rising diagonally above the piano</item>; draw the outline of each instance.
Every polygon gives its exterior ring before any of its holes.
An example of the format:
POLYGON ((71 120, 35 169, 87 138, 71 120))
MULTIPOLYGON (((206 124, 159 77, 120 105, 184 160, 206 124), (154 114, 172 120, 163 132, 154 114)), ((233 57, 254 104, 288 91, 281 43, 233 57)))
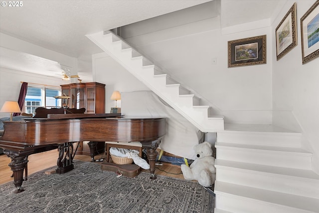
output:
POLYGON ((180 84, 168 83, 171 80, 160 68, 151 64, 124 40, 111 31, 87 35, 95 44, 107 52, 130 73, 147 85, 154 93, 202 132, 215 132, 224 129, 224 117, 208 114, 209 106, 199 105, 199 99, 187 94, 180 84), (184 94, 186 93, 186 94, 184 94))

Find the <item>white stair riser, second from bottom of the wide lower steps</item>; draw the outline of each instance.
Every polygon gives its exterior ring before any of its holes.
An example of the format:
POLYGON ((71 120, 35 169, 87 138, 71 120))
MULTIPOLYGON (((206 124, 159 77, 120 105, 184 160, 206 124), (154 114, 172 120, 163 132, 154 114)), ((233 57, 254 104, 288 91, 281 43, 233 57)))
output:
POLYGON ((319 180, 216 166, 216 180, 319 199, 319 180))

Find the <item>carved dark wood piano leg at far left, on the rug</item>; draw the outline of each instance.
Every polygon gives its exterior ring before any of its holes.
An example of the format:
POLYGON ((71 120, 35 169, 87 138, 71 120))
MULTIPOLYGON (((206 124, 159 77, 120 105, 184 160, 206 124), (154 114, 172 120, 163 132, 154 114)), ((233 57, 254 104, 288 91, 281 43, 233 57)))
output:
MULTIPOLYGON (((5 154, 11 158, 11 162, 9 163, 9 167, 11 168, 11 171, 13 172, 13 184, 16 187, 17 191, 16 193, 23 192, 25 189, 22 187, 23 183, 23 173, 24 169, 27 166, 28 163, 28 155, 30 155, 30 152, 13 152, 13 151, 4 151, 5 154)), ((25 174, 27 176, 27 172, 25 174)), ((25 177, 26 180, 26 177, 25 177)))

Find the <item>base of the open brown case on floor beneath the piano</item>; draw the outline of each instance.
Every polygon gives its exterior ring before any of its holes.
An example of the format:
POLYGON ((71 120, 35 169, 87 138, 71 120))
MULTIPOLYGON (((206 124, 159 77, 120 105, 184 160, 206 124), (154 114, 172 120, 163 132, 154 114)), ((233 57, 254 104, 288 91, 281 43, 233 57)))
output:
POLYGON ((141 168, 138 165, 135 164, 112 164, 108 162, 103 162, 101 164, 102 170, 107 170, 111 172, 116 172, 117 174, 122 174, 129 178, 134 178, 138 176, 141 172, 141 168))

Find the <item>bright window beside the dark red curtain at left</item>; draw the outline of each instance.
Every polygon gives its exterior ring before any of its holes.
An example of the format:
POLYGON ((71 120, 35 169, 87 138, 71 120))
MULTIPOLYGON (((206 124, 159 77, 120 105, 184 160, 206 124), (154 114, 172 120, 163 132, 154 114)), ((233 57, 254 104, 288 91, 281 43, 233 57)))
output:
POLYGON ((61 107, 61 100, 54 98, 60 94, 60 89, 28 86, 24 101, 25 113, 34 115, 35 109, 38 107, 47 109, 61 107))

